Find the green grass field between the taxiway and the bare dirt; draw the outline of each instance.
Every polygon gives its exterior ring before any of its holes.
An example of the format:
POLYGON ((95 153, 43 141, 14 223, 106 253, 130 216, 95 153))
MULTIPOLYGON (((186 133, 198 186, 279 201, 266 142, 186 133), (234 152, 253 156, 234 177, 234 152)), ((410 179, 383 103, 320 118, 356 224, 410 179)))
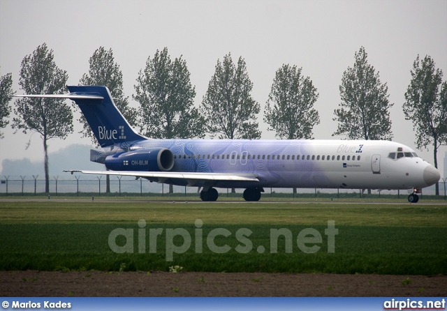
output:
POLYGON ((178 265, 183 271, 447 274, 447 206, 440 204, 0 200, 0 236, 0 270, 9 271, 168 271, 178 265), (145 226, 138 226, 140 219, 145 226), (333 253, 325 234, 328 220, 338 229, 333 253), (113 242, 128 252, 110 248, 117 228, 131 229, 130 238, 119 235, 113 242), (172 236, 178 228, 191 237, 189 247, 184 236, 172 236), (222 253, 207 243, 219 228, 229 234, 212 239, 222 253), (314 253, 297 243, 307 228, 321 236, 305 243, 318 247, 314 253), (270 231, 276 229, 290 232, 292 240, 280 236, 272 252, 270 231))

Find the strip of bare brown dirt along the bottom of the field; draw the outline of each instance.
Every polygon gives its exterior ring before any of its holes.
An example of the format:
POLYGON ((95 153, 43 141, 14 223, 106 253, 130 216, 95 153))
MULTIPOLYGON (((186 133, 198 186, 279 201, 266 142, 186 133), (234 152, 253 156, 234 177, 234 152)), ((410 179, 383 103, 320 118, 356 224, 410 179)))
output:
POLYGON ((0 271, 0 296, 447 296, 447 276, 0 271))

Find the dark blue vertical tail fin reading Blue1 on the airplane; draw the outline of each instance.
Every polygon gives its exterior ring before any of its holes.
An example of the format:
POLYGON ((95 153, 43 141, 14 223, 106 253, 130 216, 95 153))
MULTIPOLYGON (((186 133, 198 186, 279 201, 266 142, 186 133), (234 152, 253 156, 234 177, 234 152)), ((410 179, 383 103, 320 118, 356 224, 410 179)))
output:
POLYGON ((147 139, 131 128, 113 103, 105 86, 67 86, 72 100, 80 107, 98 143, 103 146, 147 139), (88 96, 92 96, 89 98, 88 96), (101 96, 94 98, 94 96, 101 96))

